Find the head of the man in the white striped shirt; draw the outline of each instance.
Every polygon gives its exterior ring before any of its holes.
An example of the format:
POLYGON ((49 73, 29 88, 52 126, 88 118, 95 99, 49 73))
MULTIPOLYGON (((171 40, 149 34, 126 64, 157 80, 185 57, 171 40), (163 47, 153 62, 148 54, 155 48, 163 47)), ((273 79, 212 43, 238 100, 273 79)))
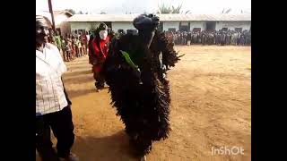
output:
POLYGON ((51 23, 44 16, 36 15, 36 45, 42 46, 48 43, 49 29, 51 23))

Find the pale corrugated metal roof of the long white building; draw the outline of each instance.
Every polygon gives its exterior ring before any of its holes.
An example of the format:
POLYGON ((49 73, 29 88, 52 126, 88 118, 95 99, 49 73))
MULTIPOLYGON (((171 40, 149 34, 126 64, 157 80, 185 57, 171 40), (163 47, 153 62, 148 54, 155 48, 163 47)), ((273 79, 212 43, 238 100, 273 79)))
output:
MULTIPOLYGON (((74 14, 66 21, 133 21, 139 14, 74 14)), ((157 14, 161 21, 251 21, 251 14, 157 14)))

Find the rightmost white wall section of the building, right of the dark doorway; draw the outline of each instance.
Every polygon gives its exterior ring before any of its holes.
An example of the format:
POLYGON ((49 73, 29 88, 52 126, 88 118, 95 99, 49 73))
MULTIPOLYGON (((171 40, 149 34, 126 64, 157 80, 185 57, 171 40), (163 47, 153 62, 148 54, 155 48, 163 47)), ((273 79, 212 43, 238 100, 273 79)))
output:
POLYGON ((251 21, 218 21, 216 22, 215 29, 222 30, 222 28, 228 28, 234 30, 235 28, 242 28, 242 30, 249 30, 251 21))

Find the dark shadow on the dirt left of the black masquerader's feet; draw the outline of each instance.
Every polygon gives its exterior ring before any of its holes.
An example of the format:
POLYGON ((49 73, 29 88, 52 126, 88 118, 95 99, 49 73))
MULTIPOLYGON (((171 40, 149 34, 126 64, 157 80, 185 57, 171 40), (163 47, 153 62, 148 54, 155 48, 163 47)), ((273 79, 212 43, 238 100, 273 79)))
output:
POLYGON ((107 137, 82 137, 75 139, 74 153, 84 161, 137 161, 125 131, 107 137))

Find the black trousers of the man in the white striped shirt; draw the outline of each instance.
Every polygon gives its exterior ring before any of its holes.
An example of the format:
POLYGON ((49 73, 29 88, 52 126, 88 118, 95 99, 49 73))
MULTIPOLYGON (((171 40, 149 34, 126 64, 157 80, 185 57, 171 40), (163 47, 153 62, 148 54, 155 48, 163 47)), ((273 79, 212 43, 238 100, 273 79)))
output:
POLYGON ((67 157, 74 144, 74 124, 72 111, 66 106, 61 111, 36 116, 36 148, 42 161, 57 161, 67 157), (52 148, 50 128, 57 138, 57 153, 52 148))

